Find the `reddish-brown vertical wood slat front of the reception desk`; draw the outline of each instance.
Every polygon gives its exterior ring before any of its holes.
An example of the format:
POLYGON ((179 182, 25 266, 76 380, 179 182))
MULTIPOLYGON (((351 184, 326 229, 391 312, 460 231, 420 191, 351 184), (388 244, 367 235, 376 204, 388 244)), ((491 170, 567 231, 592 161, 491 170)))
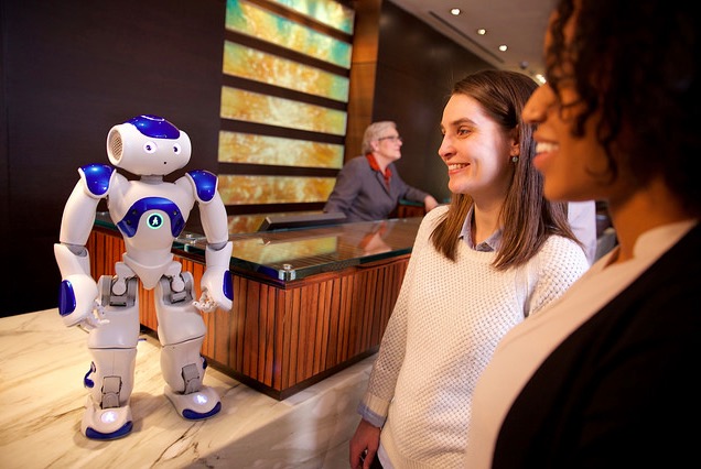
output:
MULTIPOLYGON (((87 244, 97 279, 114 274, 121 238, 96 228, 87 244)), ((204 264, 175 257, 195 279, 204 264)), ((409 254, 373 264, 279 282, 233 271, 230 312, 204 314, 202 353, 237 380, 285 399, 374 353, 399 295, 409 254)), ((141 324, 158 328, 153 292, 139 287, 141 324)))

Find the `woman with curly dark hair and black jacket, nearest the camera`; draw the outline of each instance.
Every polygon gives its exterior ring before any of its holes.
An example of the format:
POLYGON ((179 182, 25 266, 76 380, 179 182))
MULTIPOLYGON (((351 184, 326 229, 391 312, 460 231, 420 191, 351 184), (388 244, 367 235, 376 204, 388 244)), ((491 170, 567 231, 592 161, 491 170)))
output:
POLYGON ((605 200, 618 247, 511 329, 476 386, 468 467, 698 460, 699 13, 559 0, 522 111, 551 200, 605 200))

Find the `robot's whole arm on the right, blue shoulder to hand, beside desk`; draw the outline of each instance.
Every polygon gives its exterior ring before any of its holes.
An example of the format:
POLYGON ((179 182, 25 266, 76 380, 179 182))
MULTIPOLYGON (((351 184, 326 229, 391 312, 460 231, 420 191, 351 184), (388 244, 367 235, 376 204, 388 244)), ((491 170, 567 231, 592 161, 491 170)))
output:
POLYGON ((228 312, 234 298, 229 272, 233 244, 228 240, 226 207, 217 192, 217 177, 208 171, 191 171, 186 178, 199 204, 202 227, 207 237, 206 269, 201 282, 202 297, 194 304, 205 313, 217 307, 228 312))

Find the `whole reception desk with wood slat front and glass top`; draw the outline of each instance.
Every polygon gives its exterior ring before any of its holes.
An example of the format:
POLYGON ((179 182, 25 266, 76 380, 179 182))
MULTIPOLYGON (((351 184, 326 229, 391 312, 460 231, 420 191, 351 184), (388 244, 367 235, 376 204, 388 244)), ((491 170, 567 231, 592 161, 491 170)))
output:
MULTIPOLYGON (((234 305, 203 314, 209 364, 277 400, 375 353, 391 314, 420 217, 230 234, 234 305)), ((199 295, 206 240, 183 232, 173 252, 199 295)), ((88 242, 93 275, 114 274, 123 241, 99 214, 88 242)), ((141 324, 157 330, 153 292, 141 324)))

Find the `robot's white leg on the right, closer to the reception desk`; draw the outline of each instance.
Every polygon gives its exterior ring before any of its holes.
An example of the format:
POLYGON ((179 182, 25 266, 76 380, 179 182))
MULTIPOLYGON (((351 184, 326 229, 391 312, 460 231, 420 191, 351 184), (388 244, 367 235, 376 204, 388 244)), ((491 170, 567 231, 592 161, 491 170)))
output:
POLYGON ((186 419, 212 417, 222 410, 216 391, 203 384, 206 361, 199 353, 206 327, 192 302, 193 276, 183 272, 155 286, 164 393, 186 419))

